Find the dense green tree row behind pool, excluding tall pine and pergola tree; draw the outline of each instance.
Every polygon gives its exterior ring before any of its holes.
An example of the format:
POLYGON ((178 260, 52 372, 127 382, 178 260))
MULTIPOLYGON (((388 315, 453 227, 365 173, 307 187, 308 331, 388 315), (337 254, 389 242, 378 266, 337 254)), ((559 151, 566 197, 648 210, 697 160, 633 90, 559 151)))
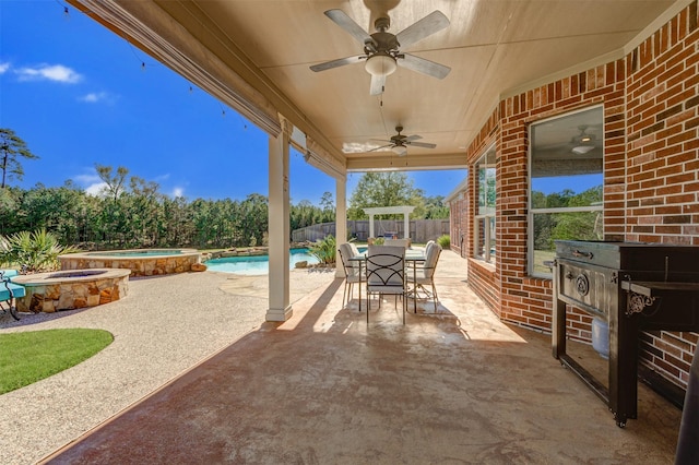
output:
MULTIPOLYGON (((291 206, 292 228, 334 220, 334 208, 303 201, 291 206)), ((83 249, 193 247, 198 249, 266 245, 268 199, 188 202, 132 178, 119 195, 91 195, 67 181, 29 190, 0 189, 0 235, 46 229, 61 243, 83 249)))

